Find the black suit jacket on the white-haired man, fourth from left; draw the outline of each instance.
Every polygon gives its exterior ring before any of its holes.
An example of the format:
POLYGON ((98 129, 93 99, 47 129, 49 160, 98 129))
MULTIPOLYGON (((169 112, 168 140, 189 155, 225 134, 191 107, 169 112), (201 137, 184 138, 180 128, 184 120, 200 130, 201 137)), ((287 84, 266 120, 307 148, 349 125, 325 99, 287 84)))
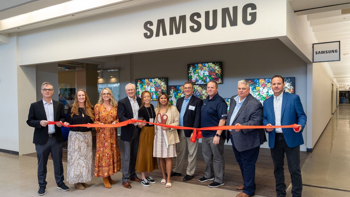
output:
MULTIPOLYGON (((136 101, 141 106, 141 98, 136 97, 136 101)), ((132 111, 131 103, 128 97, 121 99, 118 101, 118 117, 119 122, 124 122, 134 118, 134 114, 132 111)), ((130 142, 134 133, 133 124, 128 124, 124 127, 121 127, 120 140, 130 142)))

